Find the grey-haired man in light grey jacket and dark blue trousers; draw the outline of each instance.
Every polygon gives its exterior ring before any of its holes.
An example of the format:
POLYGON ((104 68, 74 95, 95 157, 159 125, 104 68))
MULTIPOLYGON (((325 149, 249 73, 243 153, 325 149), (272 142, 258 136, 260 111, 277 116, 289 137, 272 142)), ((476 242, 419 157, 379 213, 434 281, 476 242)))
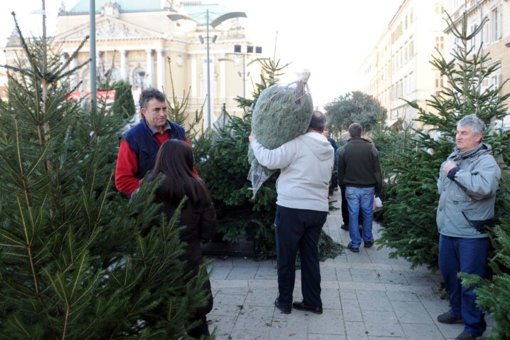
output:
POLYGON ((463 287, 457 277, 459 272, 484 277, 487 268, 489 237, 485 230, 493 224, 501 170, 491 155, 491 147, 482 143, 484 133, 484 122, 476 115, 459 120, 457 146, 441 165, 437 181, 439 267, 452 306, 437 321, 463 322, 464 331, 456 340, 476 339, 487 327, 473 288, 463 287))

